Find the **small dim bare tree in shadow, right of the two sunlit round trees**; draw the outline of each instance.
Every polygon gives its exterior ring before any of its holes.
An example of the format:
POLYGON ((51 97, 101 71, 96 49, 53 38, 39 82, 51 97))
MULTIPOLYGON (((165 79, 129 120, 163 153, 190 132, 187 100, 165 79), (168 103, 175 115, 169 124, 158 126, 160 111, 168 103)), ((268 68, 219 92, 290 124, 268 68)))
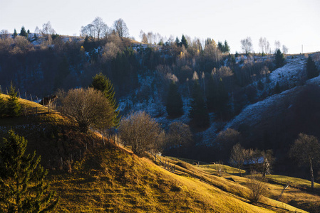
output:
POLYGON ((192 141, 190 127, 182 122, 173 122, 169 126, 168 141, 170 145, 177 147, 179 154, 181 146, 187 145, 192 141))

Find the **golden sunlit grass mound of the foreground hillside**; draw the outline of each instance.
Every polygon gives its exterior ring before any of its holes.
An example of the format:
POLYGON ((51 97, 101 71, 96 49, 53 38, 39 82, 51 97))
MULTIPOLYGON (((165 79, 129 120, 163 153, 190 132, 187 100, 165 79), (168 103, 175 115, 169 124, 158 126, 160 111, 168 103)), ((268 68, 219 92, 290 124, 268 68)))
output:
POLYGON ((51 175, 56 212, 272 212, 188 175, 177 175, 113 145, 51 175))

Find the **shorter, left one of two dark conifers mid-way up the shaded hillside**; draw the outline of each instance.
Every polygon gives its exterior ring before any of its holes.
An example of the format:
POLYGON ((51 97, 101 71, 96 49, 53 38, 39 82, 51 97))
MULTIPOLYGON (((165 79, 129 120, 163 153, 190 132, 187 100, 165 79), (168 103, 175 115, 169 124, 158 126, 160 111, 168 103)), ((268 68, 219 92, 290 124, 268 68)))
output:
POLYGON ((182 116, 183 114, 183 102, 180 93, 177 91, 177 84, 174 81, 169 86, 167 92, 166 103, 167 114, 172 117, 182 116))

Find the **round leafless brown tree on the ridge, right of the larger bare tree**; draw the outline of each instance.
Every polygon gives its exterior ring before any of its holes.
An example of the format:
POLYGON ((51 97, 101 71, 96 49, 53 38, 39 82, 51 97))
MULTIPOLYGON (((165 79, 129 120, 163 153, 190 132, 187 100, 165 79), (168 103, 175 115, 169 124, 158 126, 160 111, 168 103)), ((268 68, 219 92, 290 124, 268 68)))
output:
POLYGON ((162 137, 160 125, 144 111, 133 112, 120 122, 120 138, 133 153, 153 150, 162 137))

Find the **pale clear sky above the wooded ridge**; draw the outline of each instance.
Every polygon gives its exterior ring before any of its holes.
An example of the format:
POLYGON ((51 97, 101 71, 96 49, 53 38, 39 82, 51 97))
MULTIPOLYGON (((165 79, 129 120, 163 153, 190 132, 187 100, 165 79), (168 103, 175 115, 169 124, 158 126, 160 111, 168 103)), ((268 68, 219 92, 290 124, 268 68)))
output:
POLYGON ((143 30, 227 40, 232 53, 242 53, 240 40, 248 36, 256 53, 261 37, 272 49, 279 40, 289 53, 320 51, 320 0, 0 0, 0 31, 10 33, 21 26, 32 33, 50 21, 58 34, 79 35, 97 16, 108 26, 122 18, 138 41, 143 30))

